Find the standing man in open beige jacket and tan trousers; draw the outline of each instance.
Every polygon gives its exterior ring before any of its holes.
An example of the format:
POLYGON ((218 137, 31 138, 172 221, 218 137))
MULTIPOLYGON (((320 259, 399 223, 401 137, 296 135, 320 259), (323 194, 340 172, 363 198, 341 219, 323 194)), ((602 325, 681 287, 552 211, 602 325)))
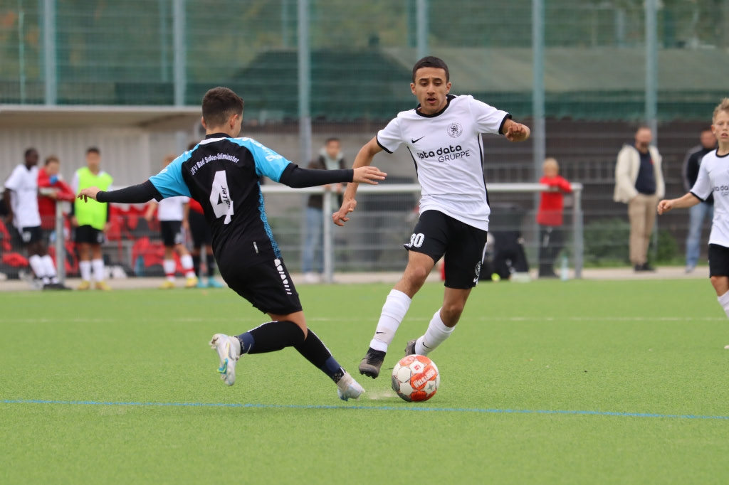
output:
POLYGON ((660 153, 652 146, 650 127, 636 131, 635 143, 624 145, 615 165, 615 202, 628 204, 631 221, 630 258, 636 272, 655 271, 648 264, 650 234, 655 223, 655 205, 666 194, 660 153))

